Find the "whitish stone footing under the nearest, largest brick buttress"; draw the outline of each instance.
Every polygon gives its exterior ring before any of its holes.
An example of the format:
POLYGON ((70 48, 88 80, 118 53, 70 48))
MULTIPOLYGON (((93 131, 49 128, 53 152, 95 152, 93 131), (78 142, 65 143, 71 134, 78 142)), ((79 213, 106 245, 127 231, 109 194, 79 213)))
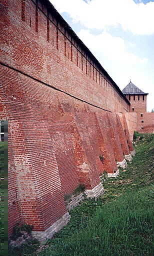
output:
POLYGON ((50 227, 45 231, 32 231, 31 234, 33 237, 39 241, 44 241, 47 238, 51 238, 54 233, 58 232, 63 226, 65 226, 69 221, 70 215, 66 212, 60 219, 55 221, 50 227))

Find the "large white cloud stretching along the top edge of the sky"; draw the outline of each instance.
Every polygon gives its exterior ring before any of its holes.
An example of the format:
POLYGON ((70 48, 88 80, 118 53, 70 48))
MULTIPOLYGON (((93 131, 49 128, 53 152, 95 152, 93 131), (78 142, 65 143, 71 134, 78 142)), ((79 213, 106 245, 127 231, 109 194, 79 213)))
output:
MULTIPOLYGON (((141 1, 140 1, 141 2, 141 1)), ((154 34, 154 2, 135 4, 133 0, 51 0, 60 12, 66 12, 74 23, 88 29, 108 29, 121 25, 135 35, 154 34)))

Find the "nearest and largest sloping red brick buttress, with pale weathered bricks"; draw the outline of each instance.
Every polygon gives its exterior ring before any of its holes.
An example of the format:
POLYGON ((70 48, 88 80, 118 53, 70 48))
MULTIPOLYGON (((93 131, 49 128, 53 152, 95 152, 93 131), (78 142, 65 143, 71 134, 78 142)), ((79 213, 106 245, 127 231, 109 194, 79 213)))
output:
POLYGON ((22 220, 44 230, 66 212, 52 138, 36 120, 9 122, 9 131, 22 220))

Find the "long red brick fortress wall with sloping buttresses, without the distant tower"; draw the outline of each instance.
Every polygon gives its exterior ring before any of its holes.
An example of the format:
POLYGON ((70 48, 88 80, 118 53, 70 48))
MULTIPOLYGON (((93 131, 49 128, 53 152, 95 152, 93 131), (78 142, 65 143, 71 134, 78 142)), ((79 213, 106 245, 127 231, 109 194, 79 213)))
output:
POLYGON ((115 175, 115 160, 130 153, 125 117, 106 113, 128 111, 129 104, 42 1, 20 3, 0 4, 0 118, 8 120, 10 134, 8 232, 22 220, 36 236, 49 237, 69 220, 65 196, 80 184, 96 196, 99 176, 115 175))

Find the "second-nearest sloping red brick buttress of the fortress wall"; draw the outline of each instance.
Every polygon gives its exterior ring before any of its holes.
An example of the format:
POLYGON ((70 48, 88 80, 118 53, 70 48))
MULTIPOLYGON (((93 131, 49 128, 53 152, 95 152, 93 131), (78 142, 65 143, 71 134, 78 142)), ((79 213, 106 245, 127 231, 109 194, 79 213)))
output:
POLYGON ((95 116, 93 113, 75 113, 74 119, 79 137, 75 142, 74 151, 77 150, 80 183, 83 183, 86 189, 92 189, 100 182, 99 173, 102 173, 98 141, 94 136, 95 116))

